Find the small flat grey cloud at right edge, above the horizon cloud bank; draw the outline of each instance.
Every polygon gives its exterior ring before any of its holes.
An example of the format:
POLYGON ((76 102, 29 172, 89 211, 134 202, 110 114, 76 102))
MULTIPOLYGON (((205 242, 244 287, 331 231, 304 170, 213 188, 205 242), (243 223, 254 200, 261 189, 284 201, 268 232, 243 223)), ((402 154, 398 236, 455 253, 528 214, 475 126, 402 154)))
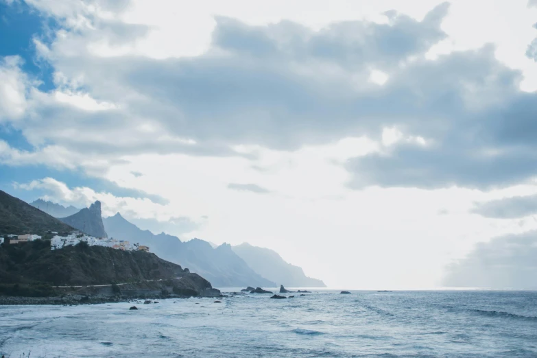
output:
POLYGON ((479 202, 475 204, 473 213, 494 219, 517 219, 537 214, 537 195, 514 196, 479 202))

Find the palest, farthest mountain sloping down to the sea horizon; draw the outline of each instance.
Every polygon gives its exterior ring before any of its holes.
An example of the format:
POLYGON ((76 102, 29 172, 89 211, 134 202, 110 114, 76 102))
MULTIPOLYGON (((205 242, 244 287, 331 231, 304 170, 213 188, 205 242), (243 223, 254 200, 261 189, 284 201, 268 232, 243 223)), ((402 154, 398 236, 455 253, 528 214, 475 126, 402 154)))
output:
POLYGON ((241 257, 255 272, 270 281, 289 287, 326 287, 321 280, 310 278, 302 268, 285 262, 278 252, 258 248, 249 243, 233 246, 232 250, 241 257))

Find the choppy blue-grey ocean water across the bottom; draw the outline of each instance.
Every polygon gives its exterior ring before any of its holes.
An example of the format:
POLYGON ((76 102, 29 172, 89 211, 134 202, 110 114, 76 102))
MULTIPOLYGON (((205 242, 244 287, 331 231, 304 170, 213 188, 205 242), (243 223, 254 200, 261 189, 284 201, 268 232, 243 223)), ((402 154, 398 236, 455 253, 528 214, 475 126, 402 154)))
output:
MULTIPOLYGON (((223 290, 225 291, 225 290, 223 290)), ((158 304, 0 306, 30 357, 537 357, 536 291, 315 290, 158 304), (290 296, 293 294, 285 294, 290 296), (137 311, 129 307, 136 305, 137 311)))

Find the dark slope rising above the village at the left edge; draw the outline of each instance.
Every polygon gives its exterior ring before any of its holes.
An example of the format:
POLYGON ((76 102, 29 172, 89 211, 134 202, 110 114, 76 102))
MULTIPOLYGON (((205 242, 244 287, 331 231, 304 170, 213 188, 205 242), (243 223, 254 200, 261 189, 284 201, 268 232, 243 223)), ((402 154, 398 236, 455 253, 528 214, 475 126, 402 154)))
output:
POLYGON ((71 232, 73 228, 0 190, 0 234, 45 235, 48 230, 71 232))

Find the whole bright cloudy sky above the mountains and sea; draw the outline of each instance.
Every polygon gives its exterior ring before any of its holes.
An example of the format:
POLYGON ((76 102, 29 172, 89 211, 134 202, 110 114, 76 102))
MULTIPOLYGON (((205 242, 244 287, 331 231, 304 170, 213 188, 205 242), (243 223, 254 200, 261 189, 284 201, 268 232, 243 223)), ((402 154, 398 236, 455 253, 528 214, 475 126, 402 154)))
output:
POLYGON ((537 289, 537 1, 0 0, 0 189, 329 287, 537 289))

